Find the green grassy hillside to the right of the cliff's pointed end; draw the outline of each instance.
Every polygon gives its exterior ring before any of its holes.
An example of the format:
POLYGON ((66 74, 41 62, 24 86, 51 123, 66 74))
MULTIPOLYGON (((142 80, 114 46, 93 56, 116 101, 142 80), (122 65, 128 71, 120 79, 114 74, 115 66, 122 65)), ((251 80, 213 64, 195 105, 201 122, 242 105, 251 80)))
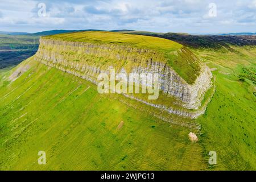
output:
MULTIPOLYGON (((213 169, 256 169, 256 48, 195 49, 216 76, 216 93, 201 123, 205 150, 217 152, 213 169)), ((212 168, 209 166, 209 168, 212 168)))

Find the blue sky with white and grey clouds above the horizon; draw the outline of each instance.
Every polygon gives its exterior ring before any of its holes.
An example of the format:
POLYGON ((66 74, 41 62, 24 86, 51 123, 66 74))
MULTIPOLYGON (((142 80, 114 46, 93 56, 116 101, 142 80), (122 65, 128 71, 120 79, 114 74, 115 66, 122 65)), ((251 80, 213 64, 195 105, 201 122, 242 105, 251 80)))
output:
POLYGON ((256 0, 1 0, 0 31, 256 32, 256 0))

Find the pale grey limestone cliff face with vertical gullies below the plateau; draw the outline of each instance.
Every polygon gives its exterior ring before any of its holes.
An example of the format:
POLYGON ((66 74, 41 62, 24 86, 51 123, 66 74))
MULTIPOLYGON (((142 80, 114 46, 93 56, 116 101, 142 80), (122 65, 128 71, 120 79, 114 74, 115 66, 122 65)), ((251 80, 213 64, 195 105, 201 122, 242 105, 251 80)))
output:
MULTIPOLYGON (((186 50, 181 48, 175 53, 185 54, 186 50)), ((204 64, 201 64, 199 76, 190 85, 167 64, 166 57, 161 52, 129 45, 64 42, 41 38, 35 59, 95 84, 100 73, 109 73, 110 66, 115 68, 116 73, 159 73, 159 89, 163 91, 162 94, 172 98, 171 104, 130 97, 184 117, 196 118, 204 113, 201 102, 207 90, 213 86, 212 73, 204 64), (172 108, 171 105, 177 105, 178 109, 172 108), (199 111, 195 113, 197 109, 199 111)))

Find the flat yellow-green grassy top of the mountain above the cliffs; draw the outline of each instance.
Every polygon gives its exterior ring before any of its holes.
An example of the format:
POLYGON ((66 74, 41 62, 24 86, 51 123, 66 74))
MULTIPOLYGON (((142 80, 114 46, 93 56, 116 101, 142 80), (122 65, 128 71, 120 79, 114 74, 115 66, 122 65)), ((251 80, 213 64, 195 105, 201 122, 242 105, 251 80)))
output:
MULTIPOLYGON (((158 61, 170 65, 189 84, 196 80, 200 72, 200 63, 197 57, 192 55, 192 53, 181 44, 167 39, 105 31, 85 31, 44 36, 41 43, 43 44, 44 40, 47 39, 94 45, 116 45, 118 46, 117 49, 120 48, 118 49, 120 55, 122 54, 121 48, 123 47, 147 49, 161 55, 161 57, 158 57, 158 61)), ((111 54, 113 52, 109 53, 111 54)), ((137 60, 140 61, 139 59, 137 60)))

